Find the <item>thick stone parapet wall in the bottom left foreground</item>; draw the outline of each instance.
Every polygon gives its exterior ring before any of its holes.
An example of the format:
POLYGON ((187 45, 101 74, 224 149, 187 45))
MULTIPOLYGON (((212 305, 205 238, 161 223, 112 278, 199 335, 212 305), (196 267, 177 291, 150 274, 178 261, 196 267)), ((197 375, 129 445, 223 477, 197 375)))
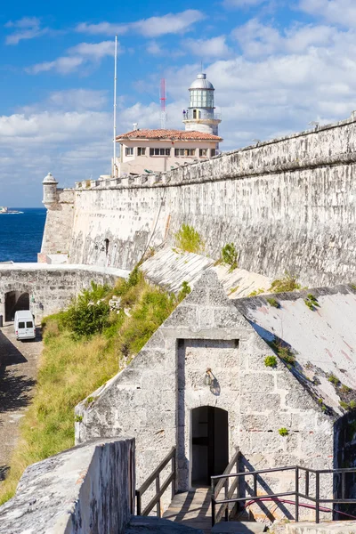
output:
POLYGON ((134 440, 94 441, 30 465, 0 533, 123 534, 134 513, 134 440))

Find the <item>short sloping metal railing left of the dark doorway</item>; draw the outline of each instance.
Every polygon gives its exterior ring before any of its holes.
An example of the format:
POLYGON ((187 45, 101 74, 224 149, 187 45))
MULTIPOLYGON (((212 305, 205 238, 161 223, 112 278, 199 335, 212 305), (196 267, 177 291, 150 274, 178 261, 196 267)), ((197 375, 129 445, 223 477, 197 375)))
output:
POLYGON ((172 498, 174 498, 175 495, 175 479, 176 479, 176 471, 175 471, 175 447, 167 454, 166 458, 162 460, 162 462, 158 465, 158 467, 154 470, 152 474, 150 474, 149 478, 143 482, 141 488, 136 490, 136 514, 137 515, 149 515, 150 512, 153 510, 154 506, 156 505, 156 511, 157 516, 161 516, 161 497, 169 487, 169 484, 172 484, 172 498), (171 462, 172 470, 171 473, 169 473, 168 478, 166 481, 163 482, 161 485, 160 483, 160 473, 165 469, 166 465, 171 462), (149 504, 144 508, 142 511, 142 495, 145 491, 147 491, 150 488, 150 485, 156 481, 156 494, 153 498, 150 499, 149 504))

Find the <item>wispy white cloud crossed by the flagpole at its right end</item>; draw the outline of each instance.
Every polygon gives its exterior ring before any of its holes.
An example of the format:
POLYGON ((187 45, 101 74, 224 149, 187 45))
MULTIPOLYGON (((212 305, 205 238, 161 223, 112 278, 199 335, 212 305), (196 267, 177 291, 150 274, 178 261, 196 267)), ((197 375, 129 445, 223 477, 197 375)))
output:
MULTIPOLYGON (((117 53, 122 53, 120 45, 117 45, 117 53)), ((107 56, 114 55, 114 42, 102 41, 101 43, 80 43, 67 51, 69 55, 62 56, 53 61, 44 61, 28 67, 29 74, 38 74, 49 70, 56 70, 60 74, 69 74, 78 67, 88 63, 100 62, 107 56)))

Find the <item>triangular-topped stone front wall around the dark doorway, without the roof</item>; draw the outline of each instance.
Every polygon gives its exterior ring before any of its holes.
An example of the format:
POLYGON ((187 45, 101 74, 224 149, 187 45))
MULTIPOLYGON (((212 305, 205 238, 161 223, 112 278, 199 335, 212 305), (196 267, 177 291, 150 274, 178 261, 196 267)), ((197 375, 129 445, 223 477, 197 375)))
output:
MULTIPOLYGON (((332 467, 333 419, 282 362, 275 369, 264 365, 269 354, 208 271, 132 363, 93 392, 89 406, 77 406, 83 419, 76 440, 132 433, 139 484, 177 447, 177 490, 188 490, 191 410, 212 406, 228 411, 230 457, 239 447, 249 469, 332 467), (204 384, 206 368, 215 377, 211 387, 204 384), (286 437, 279 435, 282 427, 286 437)), ((265 483, 290 490, 294 481, 289 473, 265 483)))

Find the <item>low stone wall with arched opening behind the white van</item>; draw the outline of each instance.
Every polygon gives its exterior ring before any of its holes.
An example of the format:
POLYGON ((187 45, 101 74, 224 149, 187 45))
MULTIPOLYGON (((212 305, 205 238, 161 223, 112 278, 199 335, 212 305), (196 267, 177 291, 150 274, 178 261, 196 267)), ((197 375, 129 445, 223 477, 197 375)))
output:
POLYGON ((0 315, 5 317, 6 293, 10 291, 28 293, 30 310, 37 321, 66 307, 73 296, 90 287, 92 280, 113 286, 127 274, 127 271, 84 265, 0 265, 0 315))

